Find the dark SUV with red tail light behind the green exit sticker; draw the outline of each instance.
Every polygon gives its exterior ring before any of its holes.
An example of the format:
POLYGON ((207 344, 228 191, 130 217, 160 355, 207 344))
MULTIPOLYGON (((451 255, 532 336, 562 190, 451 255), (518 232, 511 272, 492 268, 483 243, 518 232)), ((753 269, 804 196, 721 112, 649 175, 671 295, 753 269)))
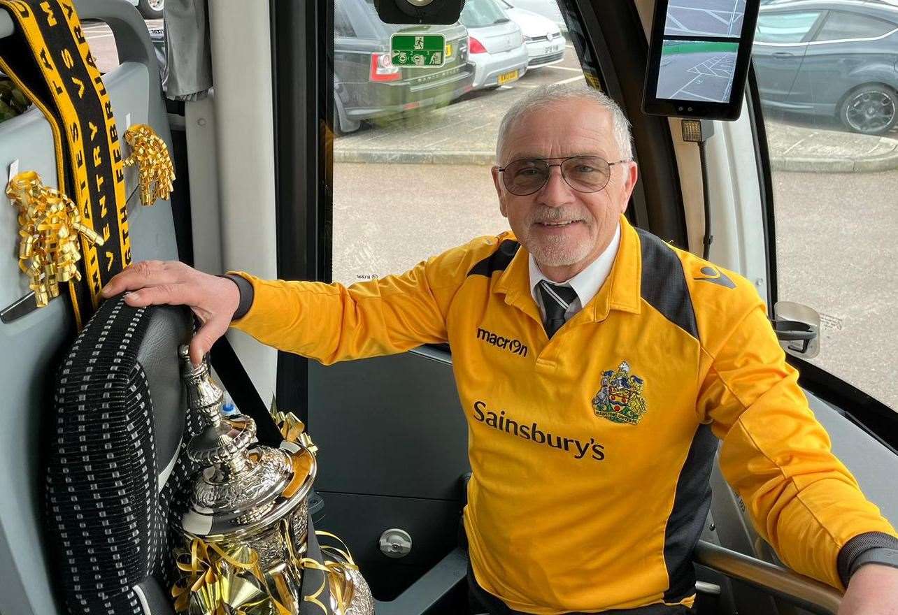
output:
POLYGON ((333 126, 342 133, 357 130, 366 119, 448 104, 470 92, 474 81, 464 26, 384 23, 374 10, 374 0, 334 4, 333 66, 333 126), (444 35, 444 66, 393 66, 390 37, 401 31, 444 35))

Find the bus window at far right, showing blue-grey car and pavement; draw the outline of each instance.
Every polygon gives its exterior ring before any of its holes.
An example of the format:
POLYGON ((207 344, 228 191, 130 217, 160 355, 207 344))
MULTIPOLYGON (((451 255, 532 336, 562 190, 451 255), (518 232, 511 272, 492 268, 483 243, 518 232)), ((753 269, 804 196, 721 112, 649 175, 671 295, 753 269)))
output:
POLYGON ((898 8, 827 8, 762 5, 753 48, 778 296, 820 312, 814 365, 898 409, 898 8))

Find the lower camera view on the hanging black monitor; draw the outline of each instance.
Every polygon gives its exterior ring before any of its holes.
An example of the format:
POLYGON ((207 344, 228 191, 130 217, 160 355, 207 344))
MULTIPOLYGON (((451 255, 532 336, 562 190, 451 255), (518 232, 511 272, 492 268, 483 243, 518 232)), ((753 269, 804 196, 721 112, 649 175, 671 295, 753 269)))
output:
POLYGON ((729 102, 739 43, 665 40, 658 69, 658 98, 729 102))

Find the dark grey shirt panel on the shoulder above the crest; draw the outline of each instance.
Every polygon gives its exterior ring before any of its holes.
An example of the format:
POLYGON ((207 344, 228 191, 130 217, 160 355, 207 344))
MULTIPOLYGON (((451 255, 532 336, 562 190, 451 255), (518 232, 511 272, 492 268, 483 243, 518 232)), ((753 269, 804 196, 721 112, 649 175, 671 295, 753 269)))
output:
POLYGON ((699 326, 680 259, 670 246, 652 233, 642 229, 636 229, 636 232, 642 252, 642 298, 668 321, 699 339, 699 326))

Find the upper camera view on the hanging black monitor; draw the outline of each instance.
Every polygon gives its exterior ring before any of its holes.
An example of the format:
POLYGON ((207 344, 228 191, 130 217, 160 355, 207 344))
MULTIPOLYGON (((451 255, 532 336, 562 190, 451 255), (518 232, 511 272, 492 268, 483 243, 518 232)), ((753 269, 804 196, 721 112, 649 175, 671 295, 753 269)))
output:
POLYGON ((738 39, 745 0, 670 0, 665 36, 713 36, 738 39))

